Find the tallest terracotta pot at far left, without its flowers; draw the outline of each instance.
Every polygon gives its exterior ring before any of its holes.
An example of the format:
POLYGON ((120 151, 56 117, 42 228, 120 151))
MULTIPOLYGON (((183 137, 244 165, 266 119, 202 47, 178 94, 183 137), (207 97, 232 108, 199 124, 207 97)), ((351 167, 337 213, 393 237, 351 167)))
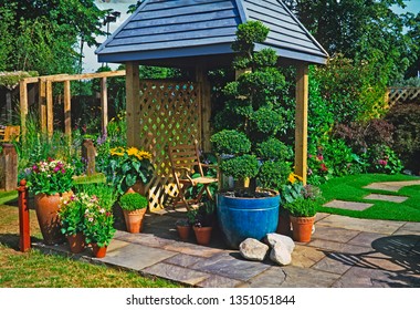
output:
POLYGON ((65 242, 65 236, 60 230, 57 210, 61 198, 67 198, 72 194, 73 192, 55 195, 38 194, 34 196, 36 218, 46 245, 65 242))

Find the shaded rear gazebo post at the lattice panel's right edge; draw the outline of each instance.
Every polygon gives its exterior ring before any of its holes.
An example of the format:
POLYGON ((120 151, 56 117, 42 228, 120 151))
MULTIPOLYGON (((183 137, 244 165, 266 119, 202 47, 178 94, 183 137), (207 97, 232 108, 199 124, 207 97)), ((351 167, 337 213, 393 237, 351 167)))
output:
POLYGON ((206 74, 206 68, 199 64, 196 68, 196 82, 199 83, 200 90, 200 105, 201 105, 201 147, 204 152, 211 151, 210 143, 210 117, 211 117, 211 87, 209 79, 206 74))

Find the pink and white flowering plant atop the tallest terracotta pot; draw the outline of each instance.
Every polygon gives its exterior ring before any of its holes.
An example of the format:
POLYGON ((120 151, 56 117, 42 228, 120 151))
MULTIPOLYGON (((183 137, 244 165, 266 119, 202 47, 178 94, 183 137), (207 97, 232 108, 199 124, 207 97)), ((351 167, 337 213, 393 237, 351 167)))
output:
POLYGON ((35 195, 65 193, 73 187, 74 168, 60 159, 41 161, 27 168, 25 173, 29 188, 35 195))

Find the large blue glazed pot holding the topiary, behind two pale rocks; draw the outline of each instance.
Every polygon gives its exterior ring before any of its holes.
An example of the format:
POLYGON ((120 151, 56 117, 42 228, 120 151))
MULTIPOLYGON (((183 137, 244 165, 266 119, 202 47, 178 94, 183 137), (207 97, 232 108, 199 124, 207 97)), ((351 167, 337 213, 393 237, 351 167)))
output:
POLYGON ((261 240, 275 232, 280 195, 262 198, 230 197, 218 194, 218 219, 224 240, 232 249, 246 238, 261 240))

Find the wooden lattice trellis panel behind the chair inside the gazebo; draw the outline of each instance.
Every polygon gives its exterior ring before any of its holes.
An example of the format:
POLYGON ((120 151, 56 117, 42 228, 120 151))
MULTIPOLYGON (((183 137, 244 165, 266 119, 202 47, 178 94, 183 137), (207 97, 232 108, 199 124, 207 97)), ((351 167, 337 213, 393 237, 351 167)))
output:
POLYGON ((154 155, 156 176, 148 185, 150 211, 170 205, 178 194, 172 182, 168 145, 201 141, 199 83, 141 81, 141 146, 154 155))

